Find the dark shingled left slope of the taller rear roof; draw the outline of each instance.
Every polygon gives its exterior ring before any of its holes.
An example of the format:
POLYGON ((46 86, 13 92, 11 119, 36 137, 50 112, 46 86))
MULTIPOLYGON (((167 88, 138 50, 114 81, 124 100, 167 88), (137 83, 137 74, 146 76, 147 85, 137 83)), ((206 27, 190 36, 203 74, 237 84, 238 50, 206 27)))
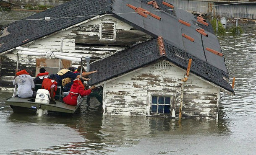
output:
POLYGON ((0 55, 2 52, 81 23, 96 15, 105 14, 109 3, 108 0, 72 0, 24 18, 32 20, 10 23, 7 28, 10 34, 0 37, 0 55), (46 21, 45 17, 50 17, 51 20, 46 21))

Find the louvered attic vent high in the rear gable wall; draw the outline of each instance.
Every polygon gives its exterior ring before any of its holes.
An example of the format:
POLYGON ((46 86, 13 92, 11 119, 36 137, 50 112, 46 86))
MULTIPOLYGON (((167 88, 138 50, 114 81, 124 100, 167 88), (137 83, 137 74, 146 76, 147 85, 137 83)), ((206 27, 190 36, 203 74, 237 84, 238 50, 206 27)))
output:
POLYGON ((115 41, 115 26, 114 21, 100 21, 99 40, 115 41))

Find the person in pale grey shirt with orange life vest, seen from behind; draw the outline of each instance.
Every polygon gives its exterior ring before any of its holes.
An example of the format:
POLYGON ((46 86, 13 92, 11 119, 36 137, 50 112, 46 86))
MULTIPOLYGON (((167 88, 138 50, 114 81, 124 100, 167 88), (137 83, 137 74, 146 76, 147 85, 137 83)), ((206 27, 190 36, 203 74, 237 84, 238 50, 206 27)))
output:
POLYGON ((36 97, 37 92, 34 91, 34 81, 31 70, 16 70, 13 78, 13 85, 18 85, 17 96, 20 98, 36 97))

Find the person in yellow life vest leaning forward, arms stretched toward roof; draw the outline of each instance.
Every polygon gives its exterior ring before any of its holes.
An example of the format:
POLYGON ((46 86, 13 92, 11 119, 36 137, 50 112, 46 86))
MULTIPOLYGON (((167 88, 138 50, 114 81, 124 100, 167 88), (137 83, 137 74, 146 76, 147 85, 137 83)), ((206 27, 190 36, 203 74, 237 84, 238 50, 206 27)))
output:
POLYGON ((66 78, 70 78, 71 82, 73 80, 75 80, 76 78, 82 78, 83 80, 90 80, 89 78, 84 78, 87 75, 90 75, 94 72, 98 72, 97 70, 91 71, 91 72, 84 72, 82 73, 82 77, 80 77, 81 75, 78 75, 77 73, 74 73, 74 68, 73 67, 69 67, 68 69, 62 69, 59 72, 57 72, 57 74, 55 75, 57 78, 57 83, 58 85, 63 87, 63 79, 66 78))

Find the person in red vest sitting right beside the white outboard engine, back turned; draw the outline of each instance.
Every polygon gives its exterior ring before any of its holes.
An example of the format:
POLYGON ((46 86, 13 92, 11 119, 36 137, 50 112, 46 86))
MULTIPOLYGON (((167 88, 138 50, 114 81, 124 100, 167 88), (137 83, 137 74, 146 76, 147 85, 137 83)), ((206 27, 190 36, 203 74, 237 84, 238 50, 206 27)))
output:
POLYGON ((57 82, 54 74, 51 74, 48 78, 45 78, 42 83, 42 89, 47 89, 50 93, 50 100, 55 101, 54 97, 57 91, 57 82))

